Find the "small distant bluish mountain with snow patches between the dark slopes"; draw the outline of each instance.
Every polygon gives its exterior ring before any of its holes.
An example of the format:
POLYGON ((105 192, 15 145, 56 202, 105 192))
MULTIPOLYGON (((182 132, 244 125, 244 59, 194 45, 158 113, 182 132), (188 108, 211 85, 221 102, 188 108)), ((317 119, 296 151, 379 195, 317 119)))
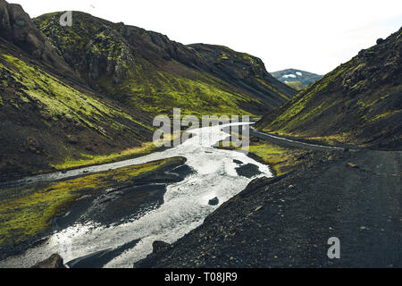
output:
POLYGON ((275 79, 281 80, 281 82, 286 83, 289 87, 295 88, 296 90, 306 88, 315 80, 322 78, 322 75, 295 69, 274 71, 271 72, 271 74, 275 79))

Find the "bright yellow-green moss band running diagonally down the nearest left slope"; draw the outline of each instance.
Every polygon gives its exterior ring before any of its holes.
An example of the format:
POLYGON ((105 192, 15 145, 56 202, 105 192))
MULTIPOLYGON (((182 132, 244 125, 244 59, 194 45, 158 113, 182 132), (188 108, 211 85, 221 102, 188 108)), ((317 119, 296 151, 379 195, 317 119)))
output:
POLYGON ((1 68, 10 71, 13 79, 23 86, 21 100, 23 102, 39 102, 42 111, 50 114, 54 121, 59 120, 61 116, 68 115, 76 122, 81 122, 104 135, 105 130, 101 128, 103 124, 107 124, 115 130, 127 130, 128 127, 116 121, 116 118, 130 120, 150 129, 146 124, 136 121, 130 114, 125 114, 116 107, 107 105, 94 97, 84 95, 45 71, 25 63, 13 55, 0 54, 0 57, 13 65, 12 68, 8 68, 0 63, 1 68), (94 122, 102 125, 96 126, 94 122))

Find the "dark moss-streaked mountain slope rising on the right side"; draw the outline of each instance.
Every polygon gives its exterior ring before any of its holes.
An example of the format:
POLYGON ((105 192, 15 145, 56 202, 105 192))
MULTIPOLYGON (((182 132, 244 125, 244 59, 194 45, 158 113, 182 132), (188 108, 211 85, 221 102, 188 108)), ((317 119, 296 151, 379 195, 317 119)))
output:
POLYGON ((400 149, 402 29, 314 82, 258 128, 298 138, 400 149))

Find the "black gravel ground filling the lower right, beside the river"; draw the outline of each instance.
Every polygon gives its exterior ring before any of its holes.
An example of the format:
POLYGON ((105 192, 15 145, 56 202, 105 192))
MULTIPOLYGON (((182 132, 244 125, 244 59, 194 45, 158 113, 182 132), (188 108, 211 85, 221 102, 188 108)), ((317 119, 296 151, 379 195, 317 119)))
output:
POLYGON ((400 151, 314 151, 135 267, 401 267, 400 151), (355 164, 355 167, 348 166, 355 164), (327 257, 331 237, 340 259, 327 257))

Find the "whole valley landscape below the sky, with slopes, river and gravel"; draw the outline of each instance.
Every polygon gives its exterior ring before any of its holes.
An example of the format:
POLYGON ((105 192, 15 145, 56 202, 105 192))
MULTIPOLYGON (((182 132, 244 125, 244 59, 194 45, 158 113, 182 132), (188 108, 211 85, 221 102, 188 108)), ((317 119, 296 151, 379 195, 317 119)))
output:
POLYGON ((402 266, 402 28, 270 73, 63 13, 0 0, 0 268, 402 266))

